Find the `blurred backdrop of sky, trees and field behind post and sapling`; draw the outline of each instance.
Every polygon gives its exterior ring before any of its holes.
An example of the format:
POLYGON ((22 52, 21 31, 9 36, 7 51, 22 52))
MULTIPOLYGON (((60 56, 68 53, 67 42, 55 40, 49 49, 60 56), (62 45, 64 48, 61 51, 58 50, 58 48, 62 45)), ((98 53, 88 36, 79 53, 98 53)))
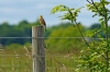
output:
MULTIPOLYGON (((47 72, 73 72, 76 67, 74 56, 87 46, 77 26, 61 21, 58 16, 63 13, 51 14, 51 10, 58 4, 77 9, 86 3, 86 0, 0 0, 0 72, 32 72, 32 26, 40 25, 40 15, 47 24, 44 33, 45 53, 50 56, 46 57, 47 72)), ((92 17, 86 8, 81 9, 77 20, 84 36, 87 31, 101 27, 98 17, 92 17)), ((99 34, 105 37, 103 32, 99 34)))

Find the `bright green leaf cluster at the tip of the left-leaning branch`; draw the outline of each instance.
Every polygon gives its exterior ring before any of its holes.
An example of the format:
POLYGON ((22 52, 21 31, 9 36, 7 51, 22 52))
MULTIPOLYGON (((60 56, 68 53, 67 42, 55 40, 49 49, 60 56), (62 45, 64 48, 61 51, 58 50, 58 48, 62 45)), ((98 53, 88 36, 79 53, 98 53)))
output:
POLYGON ((82 9, 84 7, 79 8, 79 9, 75 9, 75 8, 72 8, 69 9, 68 7, 66 5, 57 5, 55 8, 52 9, 51 13, 54 14, 56 12, 66 12, 64 13, 64 15, 59 16, 62 20, 69 20, 69 21, 76 21, 77 16, 78 16, 78 12, 80 12, 80 9, 82 9))

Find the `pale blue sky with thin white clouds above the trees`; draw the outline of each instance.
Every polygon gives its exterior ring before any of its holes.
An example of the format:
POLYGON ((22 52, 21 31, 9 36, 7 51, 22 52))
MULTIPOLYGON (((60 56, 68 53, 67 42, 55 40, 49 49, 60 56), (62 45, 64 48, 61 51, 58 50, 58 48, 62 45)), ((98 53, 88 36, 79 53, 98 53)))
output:
MULTIPOLYGON (((58 19, 62 13, 51 14, 52 8, 58 4, 79 8, 86 3, 86 0, 0 0, 0 23, 7 21, 10 24, 18 24, 22 20, 35 22, 42 14, 47 26, 53 26, 65 21, 58 19)), ((98 22, 98 17, 92 19, 92 13, 82 9, 78 21, 85 26, 90 26, 98 22)))

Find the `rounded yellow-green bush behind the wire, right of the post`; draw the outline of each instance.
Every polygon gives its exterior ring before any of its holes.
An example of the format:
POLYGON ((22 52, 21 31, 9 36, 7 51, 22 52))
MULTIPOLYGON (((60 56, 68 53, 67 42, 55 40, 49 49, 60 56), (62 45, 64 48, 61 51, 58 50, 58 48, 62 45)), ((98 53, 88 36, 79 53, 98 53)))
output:
MULTIPOLYGON (((46 40, 46 43, 50 44, 50 46, 47 47, 48 50, 65 52, 67 50, 72 50, 75 49, 76 47, 79 48, 82 46, 82 44, 77 45, 79 43, 79 39, 72 38, 72 37, 80 37, 80 33, 78 32, 78 28, 76 26, 74 26, 73 24, 62 24, 59 26, 58 26, 59 28, 51 33, 48 39, 46 40), (65 27, 66 25, 68 26, 65 27)), ((80 25, 80 28, 81 31, 84 31, 84 26, 80 25)))

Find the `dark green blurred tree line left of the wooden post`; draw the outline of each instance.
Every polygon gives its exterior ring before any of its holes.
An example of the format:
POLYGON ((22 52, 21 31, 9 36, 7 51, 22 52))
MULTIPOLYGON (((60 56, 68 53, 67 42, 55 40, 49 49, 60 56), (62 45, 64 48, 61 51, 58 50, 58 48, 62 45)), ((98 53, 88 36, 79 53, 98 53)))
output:
MULTIPOLYGON (((29 23, 23 20, 16 25, 11 25, 8 22, 0 24, 0 37, 31 37, 32 36, 32 26, 38 25, 38 21, 29 23)), ((0 38, 0 44, 10 45, 10 44, 25 44, 26 41, 31 43, 31 39, 18 39, 18 38, 0 38)))

